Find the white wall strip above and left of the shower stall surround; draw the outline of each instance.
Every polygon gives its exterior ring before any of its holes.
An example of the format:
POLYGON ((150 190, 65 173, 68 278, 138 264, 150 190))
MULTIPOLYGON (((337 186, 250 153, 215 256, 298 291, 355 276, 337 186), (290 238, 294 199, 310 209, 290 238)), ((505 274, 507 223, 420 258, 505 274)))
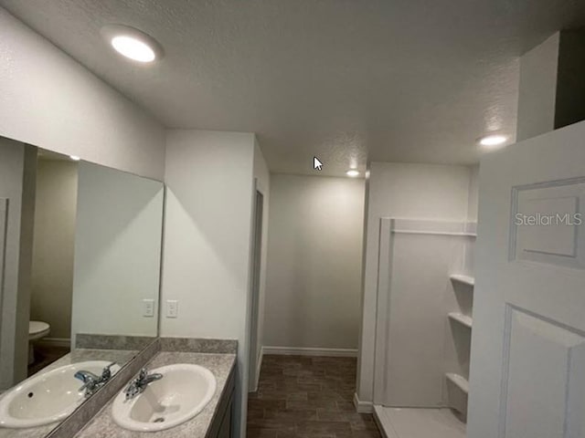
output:
POLYGON ((379 219, 465 221, 469 209, 471 174, 472 169, 465 166, 370 163, 358 356, 359 401, 372 401, 373 397, 379 219))

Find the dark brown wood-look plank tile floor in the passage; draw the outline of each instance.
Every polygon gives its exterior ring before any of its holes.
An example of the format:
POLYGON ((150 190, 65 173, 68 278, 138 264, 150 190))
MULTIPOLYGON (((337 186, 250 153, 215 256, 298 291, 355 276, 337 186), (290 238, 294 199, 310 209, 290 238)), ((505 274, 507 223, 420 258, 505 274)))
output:
POLYGON ((250 438, 380 438, 370 414, 356 413, 356 359, 264 356, 248 401, 250 438))

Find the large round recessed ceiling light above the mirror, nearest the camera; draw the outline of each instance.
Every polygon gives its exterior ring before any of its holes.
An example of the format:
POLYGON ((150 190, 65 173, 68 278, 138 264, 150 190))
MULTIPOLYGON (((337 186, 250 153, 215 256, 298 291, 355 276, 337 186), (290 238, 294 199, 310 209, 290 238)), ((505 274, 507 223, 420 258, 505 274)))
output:
POLYGON ((152 36, 130 26, 103 26, 101 36, 116 52, 137 62, 146 64, 163 56, 163 48, 152 36))

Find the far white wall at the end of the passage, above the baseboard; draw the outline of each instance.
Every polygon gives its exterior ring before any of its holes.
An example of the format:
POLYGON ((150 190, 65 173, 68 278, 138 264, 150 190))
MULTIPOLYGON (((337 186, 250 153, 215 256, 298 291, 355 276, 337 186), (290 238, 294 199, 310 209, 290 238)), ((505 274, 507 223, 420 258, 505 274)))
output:
POLYGON ((271 175, 265 347, 356 349, 364 181, 271 175))

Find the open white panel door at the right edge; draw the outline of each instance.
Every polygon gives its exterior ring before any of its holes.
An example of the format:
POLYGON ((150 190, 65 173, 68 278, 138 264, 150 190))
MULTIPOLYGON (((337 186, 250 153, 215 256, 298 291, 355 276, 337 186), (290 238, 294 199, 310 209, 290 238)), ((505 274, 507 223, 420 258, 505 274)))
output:
POLYGON ((482 160, 468 438, 585 437, 583 138, 482 160))

